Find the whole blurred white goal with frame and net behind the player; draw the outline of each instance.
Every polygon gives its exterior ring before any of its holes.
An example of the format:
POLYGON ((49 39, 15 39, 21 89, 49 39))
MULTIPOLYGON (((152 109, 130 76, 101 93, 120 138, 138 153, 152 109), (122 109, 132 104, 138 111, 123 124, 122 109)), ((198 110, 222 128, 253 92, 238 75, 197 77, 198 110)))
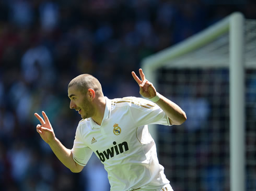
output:
POLYGON ((236 12, 142 68, 187 114, 150 128, 173 189, 256 190, 256 21, 236 12))

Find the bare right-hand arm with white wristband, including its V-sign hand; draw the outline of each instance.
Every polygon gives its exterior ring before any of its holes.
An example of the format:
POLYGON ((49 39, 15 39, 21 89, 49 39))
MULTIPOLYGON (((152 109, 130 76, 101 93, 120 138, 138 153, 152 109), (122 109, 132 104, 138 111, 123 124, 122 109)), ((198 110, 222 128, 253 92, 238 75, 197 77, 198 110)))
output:
POLYGON ((155 103, 166 113, 171 124, 180 125, 187 120, 185 112, 177 104, 157 93, 154 85, 145 78, 142 69, 139 69, 139 75, 141 79, 137 77, 134 71, 132 72, 134 80, 139 85, 139 94, 148 99, 153 98, 153 101, 155 99, 155 103))

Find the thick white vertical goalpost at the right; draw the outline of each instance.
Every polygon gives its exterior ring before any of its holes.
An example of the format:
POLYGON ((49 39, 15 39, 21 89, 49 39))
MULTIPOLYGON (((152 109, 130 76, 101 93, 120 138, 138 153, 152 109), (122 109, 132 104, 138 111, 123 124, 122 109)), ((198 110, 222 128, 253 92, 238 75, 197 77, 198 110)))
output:
POLYGON ((230 190, 245 190, 245 78, 244 21, 230 17, 230 190))

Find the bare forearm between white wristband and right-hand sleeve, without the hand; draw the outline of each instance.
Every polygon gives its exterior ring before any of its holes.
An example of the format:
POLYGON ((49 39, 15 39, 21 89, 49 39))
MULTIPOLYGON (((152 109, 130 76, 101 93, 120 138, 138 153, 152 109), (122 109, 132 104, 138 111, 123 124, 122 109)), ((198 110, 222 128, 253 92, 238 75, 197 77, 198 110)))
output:
POLYGON ((172 125, 180 125, 187 120, 185 112, 174 102, 159 94, 156 104, 166 113, 172 125))

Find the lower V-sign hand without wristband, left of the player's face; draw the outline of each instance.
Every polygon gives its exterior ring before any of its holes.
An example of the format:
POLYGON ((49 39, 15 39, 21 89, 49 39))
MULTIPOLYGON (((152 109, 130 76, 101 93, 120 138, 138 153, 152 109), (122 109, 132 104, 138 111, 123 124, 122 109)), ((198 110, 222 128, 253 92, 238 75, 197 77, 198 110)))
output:
POLYGON ((42 111, 42 115, 43 115, 43 118, 41 118, 41 116, 39 116, 38 113, 34 113, 34 116, 36 116, 41 123, 41 125, 40 124, 37 125, 37 132, 40 134, 43 141, 49 144, 51 141, 54 140, 55 134, 52 129, 52 125, 44 111, 42 111))

